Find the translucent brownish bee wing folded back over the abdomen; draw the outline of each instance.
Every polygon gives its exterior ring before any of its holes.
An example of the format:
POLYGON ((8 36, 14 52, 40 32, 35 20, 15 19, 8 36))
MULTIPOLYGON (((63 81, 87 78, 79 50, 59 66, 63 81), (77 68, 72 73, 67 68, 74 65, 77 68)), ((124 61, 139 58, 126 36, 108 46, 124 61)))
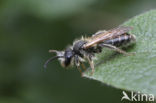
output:
POLYGON ((89 47, 94 46, 95 44, 98 44, 105 40, 108 40, 108 39, 117 37, 119 35, 122 35, 124 33, 127 33, 131 29, 132 29, 132 27, 118 27, 118 28, 114 28, 114 29, 111 29, 111 30, 108 30, 105 32, 98 33, 97 35, 92 36, 89 39, 89 42, 83 46, 83 48, 87 49, 89 47))

